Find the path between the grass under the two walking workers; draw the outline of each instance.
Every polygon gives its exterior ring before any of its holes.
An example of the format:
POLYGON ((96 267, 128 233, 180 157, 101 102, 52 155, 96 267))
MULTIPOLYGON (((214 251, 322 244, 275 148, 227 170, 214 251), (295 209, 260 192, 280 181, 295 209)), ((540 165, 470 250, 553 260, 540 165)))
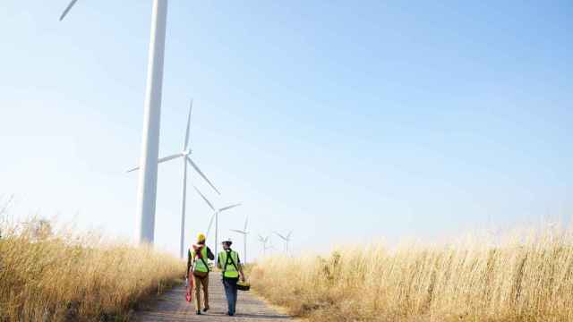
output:
MULTIPOLYGON (((184 286, 176 286, 164 293, 149 308, 135 314, 135 321, 282 321, 290 320, 286 315, 270 308, 263 301, 255 298, 251 292, 239 292, 235 317, 227 316, 227 300, 221 277, 210 274, 210 310, 200 316, 195 315, 194 298, 191 303, 185 301, 184 286)), ((193 296, 194 297, 194 296, 193 296)))

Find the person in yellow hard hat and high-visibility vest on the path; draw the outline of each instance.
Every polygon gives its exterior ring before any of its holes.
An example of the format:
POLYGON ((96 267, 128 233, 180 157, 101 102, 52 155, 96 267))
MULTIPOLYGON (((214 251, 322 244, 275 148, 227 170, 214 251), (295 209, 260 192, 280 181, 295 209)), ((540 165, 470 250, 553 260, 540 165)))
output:
POLYGON ((192 273, 195 279, 195 309, 201 315, 201 286, 203 288, 203 312, 209 310, 209 259, 215 259, 210 248, 205 245, 205 235, 197 236, 197 243, 187 252, 187 278, 192 273))

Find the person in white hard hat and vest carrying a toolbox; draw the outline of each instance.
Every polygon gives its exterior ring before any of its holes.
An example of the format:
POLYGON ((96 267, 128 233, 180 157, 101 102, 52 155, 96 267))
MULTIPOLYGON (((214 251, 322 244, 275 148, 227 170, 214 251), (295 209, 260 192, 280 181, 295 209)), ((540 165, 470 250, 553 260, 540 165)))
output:
POLYGON ((217 267, 223 273, 223 285, 225 286, 225 295, 227 296, 227 306, 229 317, 235 315, 236 308, 236 284, 241 281, 244 282, 243 266, 239 259, 239 254, 235 250, 231 250, 230 239, 222 242, 223 250, 218 253, 217 267))

